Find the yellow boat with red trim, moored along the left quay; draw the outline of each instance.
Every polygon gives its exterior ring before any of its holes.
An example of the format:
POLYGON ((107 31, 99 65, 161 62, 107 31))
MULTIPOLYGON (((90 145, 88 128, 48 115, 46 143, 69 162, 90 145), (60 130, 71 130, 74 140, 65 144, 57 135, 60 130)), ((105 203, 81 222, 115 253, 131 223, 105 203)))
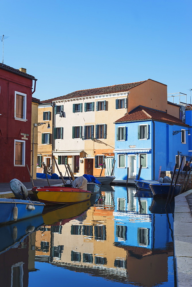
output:
POLYGON ((71 204, 90 199, 91 192, 68 187, 33 187, 35 197, 45 204, 71 204))

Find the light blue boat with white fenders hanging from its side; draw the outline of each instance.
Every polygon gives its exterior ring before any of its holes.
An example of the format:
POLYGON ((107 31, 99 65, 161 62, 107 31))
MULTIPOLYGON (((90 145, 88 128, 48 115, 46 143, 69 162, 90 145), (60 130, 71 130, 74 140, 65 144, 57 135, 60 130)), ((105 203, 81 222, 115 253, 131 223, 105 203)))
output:
POLYGON ((11 223, 24 218, 40 215, 45 206, 39 201, 1 198, 0 224, 11 223))

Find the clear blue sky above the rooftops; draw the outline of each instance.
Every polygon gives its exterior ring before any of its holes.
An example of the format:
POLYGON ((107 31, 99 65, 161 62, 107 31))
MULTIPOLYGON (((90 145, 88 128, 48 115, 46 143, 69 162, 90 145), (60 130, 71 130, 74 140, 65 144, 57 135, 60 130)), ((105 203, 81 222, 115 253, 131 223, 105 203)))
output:
MULTIPOLYGON (((38 79, 34 97, 151 78, 190 102, 191 0, 7 0, 0 7, 0 36, 9 36, 4 64, 38 79)), ((1 55, 2 42, 0 62, 1 55)))

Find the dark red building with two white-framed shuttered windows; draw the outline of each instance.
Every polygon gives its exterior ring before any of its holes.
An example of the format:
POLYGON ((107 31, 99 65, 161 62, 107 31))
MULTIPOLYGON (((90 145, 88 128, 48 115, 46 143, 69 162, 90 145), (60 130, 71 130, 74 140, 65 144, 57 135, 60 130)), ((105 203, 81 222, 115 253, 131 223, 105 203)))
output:
POLYGON ((35 91, 37 79, 26 69, 0 63, 0 182, 30 181, 33 81, 35 91))

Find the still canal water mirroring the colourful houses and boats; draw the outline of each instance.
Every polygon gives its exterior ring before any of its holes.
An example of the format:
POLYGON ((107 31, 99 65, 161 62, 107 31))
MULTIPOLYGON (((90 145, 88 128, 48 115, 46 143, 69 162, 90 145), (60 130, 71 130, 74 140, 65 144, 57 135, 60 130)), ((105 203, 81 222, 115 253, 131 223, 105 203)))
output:
MULTIPOLYGON (((174 287, 174 206, 133 187, 0 227, 0 286, 174 287)), ((47 210, 48 211, 48 210, 47 210)))

